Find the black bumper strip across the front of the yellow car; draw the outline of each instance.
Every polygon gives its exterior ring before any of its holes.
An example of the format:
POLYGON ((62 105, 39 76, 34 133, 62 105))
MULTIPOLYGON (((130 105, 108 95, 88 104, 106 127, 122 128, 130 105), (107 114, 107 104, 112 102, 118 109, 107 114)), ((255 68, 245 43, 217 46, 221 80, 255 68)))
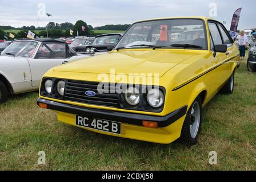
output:
POLYGON ((56 111, 62 111, 70 114, 86 115, 92 118, 101 118, 110 121, 118 121, 123 123, 129 123, 131 125, 142 126, 142 121, 154 121, 158 122, 158 127, 167 127, 177 121, 179 118, 187 112, 187 106, 183 106, 178 110, 173 111, 172 113, 164 116, 154 116, 154 115, 145 115, 145 114, 134 114, 134 113, 125 113, 111 110, 103 109, 93 109, 89 107, 81 107, 69 104, 63 104, 60 102, 54 102, 38 98, 37 104, 39 103, 47 104, 47 109, 52 109, 56 111))

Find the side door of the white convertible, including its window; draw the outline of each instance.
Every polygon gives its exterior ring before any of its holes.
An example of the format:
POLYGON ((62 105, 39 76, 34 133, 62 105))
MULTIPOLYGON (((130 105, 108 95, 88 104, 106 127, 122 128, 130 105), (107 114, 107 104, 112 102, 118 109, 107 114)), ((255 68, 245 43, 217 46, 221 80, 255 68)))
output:
POLYGON ((29 59, 32 76, 32 86, 38 87, 42 76, 51 68, 66 61, 66 44, 60 42, 45 42, 38 49, 34 59, 29 59))

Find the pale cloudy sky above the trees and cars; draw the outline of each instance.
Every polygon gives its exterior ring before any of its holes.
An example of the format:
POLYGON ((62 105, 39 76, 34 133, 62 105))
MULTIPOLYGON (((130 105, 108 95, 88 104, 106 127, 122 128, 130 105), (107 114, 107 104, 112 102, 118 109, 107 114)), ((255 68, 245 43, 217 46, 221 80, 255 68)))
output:
POLYGON ((1 26, 45 27, 48 22, 75 23, 81 19, 96 27, 169 16, 213 16, 225 21, 230 30, 234 11, 242 7, 238 29, 256 28, 255 0, 0 0, 0 5, 1 26), (53 16, 42 16, 43 12, 53 16))

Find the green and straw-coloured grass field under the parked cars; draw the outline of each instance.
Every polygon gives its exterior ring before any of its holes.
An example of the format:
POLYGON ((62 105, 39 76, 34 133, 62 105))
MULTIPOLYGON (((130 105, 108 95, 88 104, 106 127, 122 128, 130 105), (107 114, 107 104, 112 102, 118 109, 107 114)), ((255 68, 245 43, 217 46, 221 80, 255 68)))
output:
POLYGON ((40 109, 37 93, 0 105, 1 170, 256 170, 256 74, 243 61, 232 95, 203 109, 199 142, 190 148, 109 137, 68 126, 40 109), (38 151, 46 165, 37 164, 38 151), (218 164, 209 164, 216 151, 218 164))

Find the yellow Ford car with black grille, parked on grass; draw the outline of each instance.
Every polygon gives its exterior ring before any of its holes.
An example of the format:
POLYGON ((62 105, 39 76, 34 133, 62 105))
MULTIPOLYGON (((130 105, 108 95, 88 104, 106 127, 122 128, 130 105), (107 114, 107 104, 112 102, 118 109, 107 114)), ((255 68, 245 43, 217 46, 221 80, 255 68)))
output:
POLYGON ((189 146, 198 141, 202 107, 219 90, 233 92, 238 60, 214 19, 142 20, 112 51, 50 69, 37 103, 86 130, 163 144, 181 138, 189 146))

